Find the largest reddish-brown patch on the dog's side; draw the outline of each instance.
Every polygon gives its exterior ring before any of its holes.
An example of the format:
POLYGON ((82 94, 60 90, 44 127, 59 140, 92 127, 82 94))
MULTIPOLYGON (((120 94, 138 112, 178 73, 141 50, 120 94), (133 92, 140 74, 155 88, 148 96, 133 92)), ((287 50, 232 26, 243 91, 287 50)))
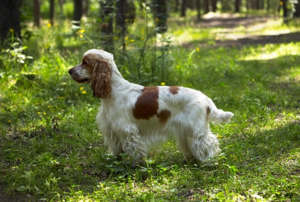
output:
POLYGON ((158 110, 158 87, 144 87, 142 94, 137 98, 134 108, 132 109, 133 116, 136 119, 146 119, 154 116, 158 110))

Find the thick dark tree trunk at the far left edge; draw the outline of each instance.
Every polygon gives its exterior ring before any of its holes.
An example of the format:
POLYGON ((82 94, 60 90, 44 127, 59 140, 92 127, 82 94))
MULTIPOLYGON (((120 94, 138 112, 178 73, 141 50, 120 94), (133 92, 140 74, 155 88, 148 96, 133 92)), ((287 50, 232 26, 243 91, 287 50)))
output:
POLYGON ((0 0, 0 42, 4 44, 5 38, 14 37, 21 38, 20 27, 20 0, 0 0))

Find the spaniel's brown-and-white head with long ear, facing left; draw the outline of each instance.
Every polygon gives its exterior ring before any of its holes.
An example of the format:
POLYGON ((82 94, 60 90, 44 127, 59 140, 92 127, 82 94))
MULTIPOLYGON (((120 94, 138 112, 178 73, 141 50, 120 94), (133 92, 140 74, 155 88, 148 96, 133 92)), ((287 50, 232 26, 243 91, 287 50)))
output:
POLYGON ((68 73, 78 83, 91 83, 93 95, 110 97, 111 67, 113 55, 104 50, 90 49, 83 54, 82 61, 70 68, 68 73))

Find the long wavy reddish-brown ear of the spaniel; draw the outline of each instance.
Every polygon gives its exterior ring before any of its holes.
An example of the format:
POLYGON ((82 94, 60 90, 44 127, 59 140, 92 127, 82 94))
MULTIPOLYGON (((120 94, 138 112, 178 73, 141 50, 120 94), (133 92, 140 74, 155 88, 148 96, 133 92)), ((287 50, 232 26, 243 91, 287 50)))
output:
POLYGON ((96 60, 93 63, 91 88, 93 96, 99 98, 110 98, 111 92, 111 68, 105 60, 96 60))

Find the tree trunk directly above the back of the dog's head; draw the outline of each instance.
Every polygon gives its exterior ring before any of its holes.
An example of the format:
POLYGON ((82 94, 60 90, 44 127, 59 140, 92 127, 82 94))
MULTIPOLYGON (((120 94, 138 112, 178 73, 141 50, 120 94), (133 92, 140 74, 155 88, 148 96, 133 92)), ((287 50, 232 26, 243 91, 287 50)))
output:
POLYGON ((106 0, 106 2, 100 1, 100 17, 101 17, 101 33, 103 35, 104 49, 110 53, 113 53, 113 28, 112 28, 112 12, 113 2, 106 0))

